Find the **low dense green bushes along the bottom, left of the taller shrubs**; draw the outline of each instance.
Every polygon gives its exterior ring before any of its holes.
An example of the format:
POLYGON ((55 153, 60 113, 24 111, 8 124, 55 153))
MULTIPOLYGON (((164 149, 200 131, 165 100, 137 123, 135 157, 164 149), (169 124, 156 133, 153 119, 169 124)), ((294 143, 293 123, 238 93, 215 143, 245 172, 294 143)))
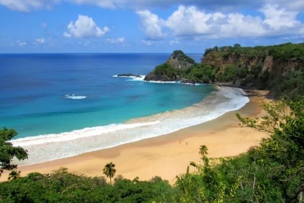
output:
POLYGON ((113 185, 104 177, 89 178, 60 168, 52 174, 31 173, 0 184, 1 202, 148 202, 170 201, 171 186, 155 177, 150 181, 119 178, 113 185))

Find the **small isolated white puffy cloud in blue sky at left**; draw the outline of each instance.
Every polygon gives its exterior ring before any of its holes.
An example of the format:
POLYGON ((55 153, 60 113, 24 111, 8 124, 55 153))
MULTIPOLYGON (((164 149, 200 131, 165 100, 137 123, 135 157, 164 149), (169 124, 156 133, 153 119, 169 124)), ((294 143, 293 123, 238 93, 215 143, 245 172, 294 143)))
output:
POLYGON ((63 33, 66 38, 90 38, 90 37, 101 37, 110 29, 104 26, 102 29, 96 25, 92 18, 88 16, 78 15, 78 19, 71 21, 67 25, 67 32, 63 33))

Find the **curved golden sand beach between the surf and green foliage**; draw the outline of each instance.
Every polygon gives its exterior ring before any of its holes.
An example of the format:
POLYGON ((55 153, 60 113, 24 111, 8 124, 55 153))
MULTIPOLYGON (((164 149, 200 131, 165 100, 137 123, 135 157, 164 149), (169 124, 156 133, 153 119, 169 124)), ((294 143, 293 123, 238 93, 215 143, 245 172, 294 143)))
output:
MULTIPOLYGON (((265 91, 259 93, 265 94, 265 91)), ((186 171, 190 161, 199 161, 200 145, 209 148, 209 157, 234 156, 258 145, 266 134, 239 126, 235 114, 258 117, 264 114, 260 106, 267 99, 264 96, 249 98, 249 103, 242 109, 199 125, 110 149, 20 166, 18 170, 25 176, 31 172, 51 173, 64 166, 71 173, 102 176, 103 166, 111 161, 116 164, 116 174, 125 178, 149 180, 153 176, 160 176, 173 183, 176 175, 186 171)), ((8 172, 5 171, 0 180, 7 180, 7 176, 8 172)))

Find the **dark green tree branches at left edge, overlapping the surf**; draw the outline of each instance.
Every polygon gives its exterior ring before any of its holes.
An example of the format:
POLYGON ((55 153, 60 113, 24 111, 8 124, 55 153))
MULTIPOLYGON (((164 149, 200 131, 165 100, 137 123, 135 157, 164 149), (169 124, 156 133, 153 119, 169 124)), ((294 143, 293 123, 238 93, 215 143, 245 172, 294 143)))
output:
POLYGON ((17 168, 16 164, 11 164, 14 157, 18 160, 24 160, 27 158, 27 151, 22 147, 14 147, 9 141, 17 136, 17 132, 14 129, 8 129, 3 127, 0 130, 0 176, 3 170, 13 170, 17 168))

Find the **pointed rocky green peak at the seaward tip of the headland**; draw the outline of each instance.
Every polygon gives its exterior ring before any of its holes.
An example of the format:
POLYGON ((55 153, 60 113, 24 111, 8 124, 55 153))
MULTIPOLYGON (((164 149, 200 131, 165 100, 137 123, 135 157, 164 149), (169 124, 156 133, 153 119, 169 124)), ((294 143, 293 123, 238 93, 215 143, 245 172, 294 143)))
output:
POLYGON ((180 50, 175 50, 167 61, 155 67, 155 69, 147 74, 145 81, 175 81, 179 80, 178 72, 193 66, 195 61, 185 55, 180 50))

